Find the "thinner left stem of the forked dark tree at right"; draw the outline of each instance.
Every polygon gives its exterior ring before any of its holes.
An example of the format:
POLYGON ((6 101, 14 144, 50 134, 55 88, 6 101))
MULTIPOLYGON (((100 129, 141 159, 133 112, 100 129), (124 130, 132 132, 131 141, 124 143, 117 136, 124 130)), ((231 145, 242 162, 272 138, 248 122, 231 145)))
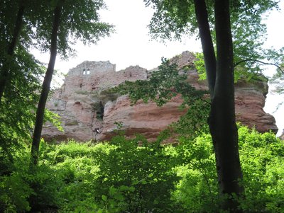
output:
POLYGON ((204 55, 204 64, 207 75, 210 98, 214 96, 214 86, 216 80, 216 57, 212 36, 210 33, 208 13, 205 0, 195 0, 195 16, 200 30, 200 39, 204 55))

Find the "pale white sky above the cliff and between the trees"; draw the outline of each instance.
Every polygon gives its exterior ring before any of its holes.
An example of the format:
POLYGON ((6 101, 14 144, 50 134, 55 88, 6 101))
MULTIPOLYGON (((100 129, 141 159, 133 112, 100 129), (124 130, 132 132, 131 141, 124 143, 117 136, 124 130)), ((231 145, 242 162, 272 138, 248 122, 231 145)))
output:
MULTIPOLYGON (((146 8, 143 0, 105 0, 108 9, 101 11, 102 21, 115 25, 116 33, 103 38, 97 45, 84 46, 78 42, 74 46, 77 56, 66 61, 59 57, 55 69, 63 74, 77 64, 88 61, 109 61, 116 64, 116 71, 126 67, 139 65, 146 69, 158 67, 162 57, 171 58, 183 51, 202 52, 199 40, 195 38, 182 38, 182 41, 166 41, 165 43, 151 40, 147 25, 150 23, 153 10, 146 8)), ((271 12, 268 20, 268 40, 266 47, 284 47, 284 0, 280 0, 282 11, 271 12)), ((42 62, 48 63, 49 54, 40 54, 33 50, 35 56, 42 62)), ((268 67, 266 74, 271 75, 275 68, 268 67)), ((284 129, 284 105, 277 112, 275 108, 283 96, 268 93, 266 99, 266 113, 276 118, 278 128, 284 129)), ((280 133, 279 132, 279 133, 280 133)))

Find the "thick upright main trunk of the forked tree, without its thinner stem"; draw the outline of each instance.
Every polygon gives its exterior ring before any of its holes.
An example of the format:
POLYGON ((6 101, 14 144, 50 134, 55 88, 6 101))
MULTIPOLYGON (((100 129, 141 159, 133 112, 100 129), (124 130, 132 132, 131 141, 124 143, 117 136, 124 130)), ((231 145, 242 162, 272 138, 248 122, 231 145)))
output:
POLYGON ((238 131, 234 105, 234 54, 231 38, 229 0, 215 1, 217 74, 209 116, 209 128, 217 162, 219 189, 225 195, 223 208, 239 212, 231 195, 241 195, 244 188, 239 160, 238 131))

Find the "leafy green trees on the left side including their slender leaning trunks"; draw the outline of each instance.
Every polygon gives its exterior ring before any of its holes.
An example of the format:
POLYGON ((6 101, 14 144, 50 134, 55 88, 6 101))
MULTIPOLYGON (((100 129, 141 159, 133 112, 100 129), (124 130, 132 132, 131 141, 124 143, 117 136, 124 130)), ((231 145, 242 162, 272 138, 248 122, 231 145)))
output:
POLYGON ((45 113, 57 54, 67 58, 78 40, 96 43, 113 26, 100 21, 99 9, 105 8, 102 0, 6 0, 0 8, 0 151, 12 159, 12 149, 29 142, 34 132, 36 163, 43 121, 58 124, 56 115, 45 113), (29 53, 31 48, 50 52, 47 70, 29 53))

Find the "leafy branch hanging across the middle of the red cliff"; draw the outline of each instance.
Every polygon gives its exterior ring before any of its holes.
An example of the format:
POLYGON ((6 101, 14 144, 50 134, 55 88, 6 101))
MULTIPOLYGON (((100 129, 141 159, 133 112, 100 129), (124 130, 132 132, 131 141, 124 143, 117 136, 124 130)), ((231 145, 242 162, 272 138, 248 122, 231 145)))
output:
POLYGON ((171 64, 169 60, 163 58, 158 70, 153 71, 148 80, 125 81, 124 84, 120 84, 113 91, 123 95, 128 94, 132 104, 142 99, 145 103, 152 100, 160 106, 181 94, 185 104, 192 105, 195 100, 202 98, 207 91, 197 91, 190 86, 186 82, 187 76, 179 74, 177 67, 176 64, 171 64))

